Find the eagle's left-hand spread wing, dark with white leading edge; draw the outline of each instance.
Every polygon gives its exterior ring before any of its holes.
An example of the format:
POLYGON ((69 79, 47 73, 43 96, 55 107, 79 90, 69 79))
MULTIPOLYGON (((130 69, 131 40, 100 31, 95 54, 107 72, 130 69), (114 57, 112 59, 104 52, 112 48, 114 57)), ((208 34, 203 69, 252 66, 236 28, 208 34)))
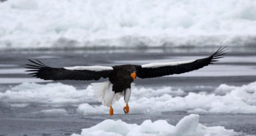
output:
POLYGON ((113 67, 104 66, 76 66, 54 68, 49 67, 39 60, 32 61, 33 64, 26 64, 28 72, 31 72, 36 78, 45 80, 99 80, 100 78, 108 78, 113 67))

